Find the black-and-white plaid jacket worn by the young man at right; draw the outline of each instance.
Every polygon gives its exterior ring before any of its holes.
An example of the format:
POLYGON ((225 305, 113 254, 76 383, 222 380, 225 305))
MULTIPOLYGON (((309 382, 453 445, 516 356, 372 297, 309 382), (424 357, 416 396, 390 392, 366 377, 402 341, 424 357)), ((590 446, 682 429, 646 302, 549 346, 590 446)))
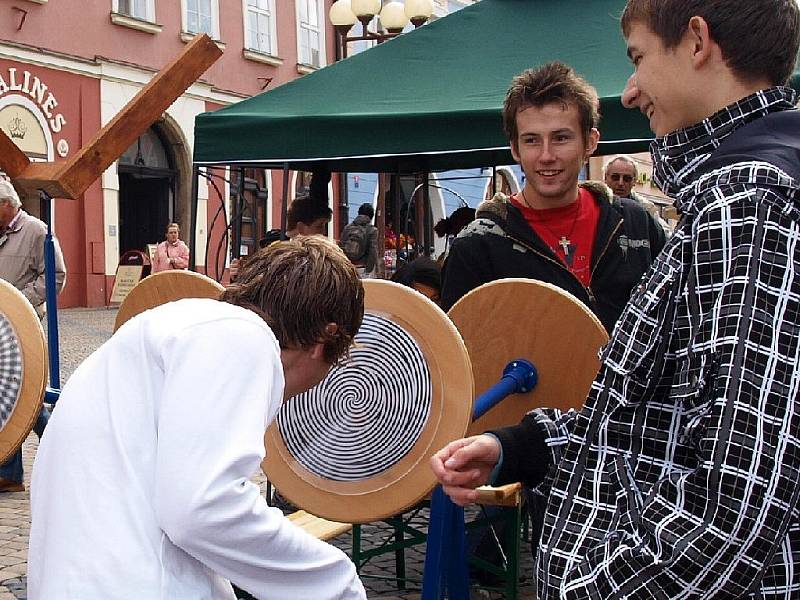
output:
POLYGON ((550 486, 540 599, 800 598, 795 102, 764 90, 654 142, 683 217, 585 407, 494 432, 501 481, 550 486))

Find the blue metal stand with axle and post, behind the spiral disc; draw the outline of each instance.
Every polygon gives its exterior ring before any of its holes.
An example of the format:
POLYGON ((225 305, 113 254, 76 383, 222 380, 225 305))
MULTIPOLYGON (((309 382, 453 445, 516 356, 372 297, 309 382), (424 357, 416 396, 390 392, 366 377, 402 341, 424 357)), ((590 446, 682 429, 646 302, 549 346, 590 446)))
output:
MULTIPOLYGON (((531 391, 538 381, 536 367, 524 359, 509 363, 503 377, 475 400, 472 419, 515 393, 531 391)), ((437 486, 431 496, 428 546, 422 579, 422 600, 469 600, 464 509, 453 504, 437 486)))

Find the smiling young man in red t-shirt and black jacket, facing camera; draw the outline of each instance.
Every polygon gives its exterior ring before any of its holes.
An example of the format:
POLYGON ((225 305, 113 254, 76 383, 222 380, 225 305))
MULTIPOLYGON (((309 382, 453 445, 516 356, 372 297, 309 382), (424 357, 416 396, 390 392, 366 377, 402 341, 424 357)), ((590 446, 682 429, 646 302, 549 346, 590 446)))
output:
POLYGON ((454 240, 443 271, 445 309, 483 283, 527 277, 572 293, 611 332, 664 232, 602 183, 578 184, 600 137, 598 105, 594 88, 560 63, 514 79, 503 123, 525 186, 483 203, 454 240))

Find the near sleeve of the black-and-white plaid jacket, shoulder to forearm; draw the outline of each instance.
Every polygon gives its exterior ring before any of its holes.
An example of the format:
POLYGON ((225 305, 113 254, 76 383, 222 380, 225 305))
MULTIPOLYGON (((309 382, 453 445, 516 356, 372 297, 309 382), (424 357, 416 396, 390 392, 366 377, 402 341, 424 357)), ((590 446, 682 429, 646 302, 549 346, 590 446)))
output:
POLYGON ((632 513, 565 575, 563 598, 761 597, 771 583, 797 597, 786 586, 797 579, 800 225, 768 188, 706 193, 684 247, 693 273, 674 299, 691 316, 673 332, 689 340, 676 369, 694 374, 695 392, 680 400, 677 437, 662 436, 696 466, 646 488, 629 473, 619 493, 632 513))

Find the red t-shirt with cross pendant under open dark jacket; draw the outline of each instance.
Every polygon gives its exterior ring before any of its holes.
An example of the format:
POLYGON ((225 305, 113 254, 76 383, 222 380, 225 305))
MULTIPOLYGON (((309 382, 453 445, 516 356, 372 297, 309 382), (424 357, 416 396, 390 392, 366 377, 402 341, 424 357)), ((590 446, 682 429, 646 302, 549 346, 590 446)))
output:
POLYGON ((576 201, 559 208, 529 208, 516 195, 511 197, 511 201, 536 235, 588 287, 592 276, 592 248, 600 217, 600 207, 591 192, 579 188, 576 201))

